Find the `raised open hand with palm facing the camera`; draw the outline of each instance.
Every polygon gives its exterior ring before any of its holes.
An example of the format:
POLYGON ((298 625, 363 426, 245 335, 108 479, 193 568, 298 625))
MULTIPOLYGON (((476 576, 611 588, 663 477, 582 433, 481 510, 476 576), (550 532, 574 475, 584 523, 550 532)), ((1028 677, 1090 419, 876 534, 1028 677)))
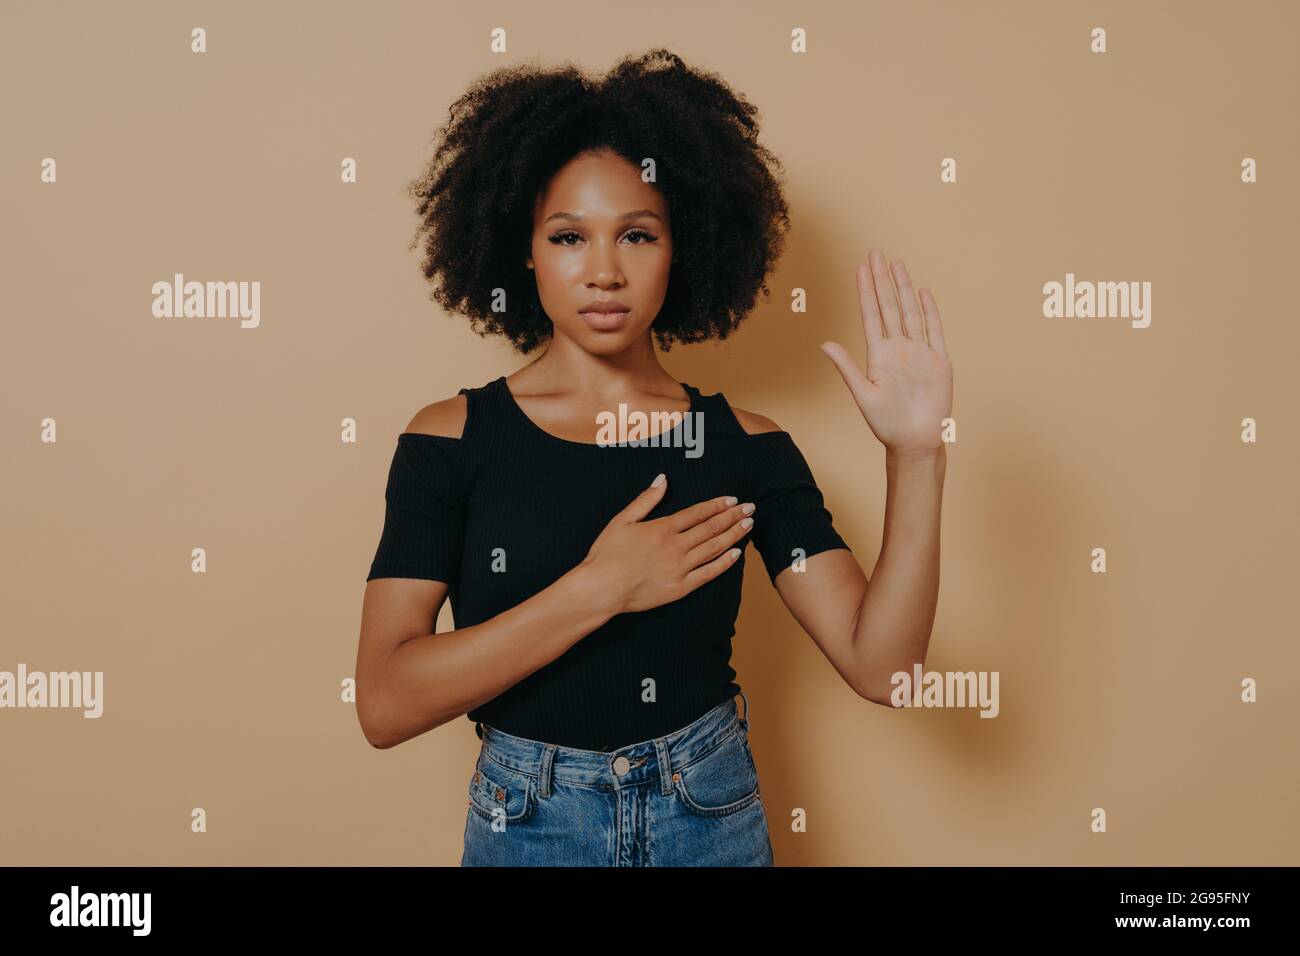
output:
POLYGON ((858 265, 858 303, 867 341, 866 375, 838 342, 823 342, 822 351, 840 369, 867 425, 889 451, 940 450, 942 420, 953 411, 953 365, 935 297, 922 289, 918 303, 902 260, 894 260, 890 278, 884 254, 871 250, 858 265))

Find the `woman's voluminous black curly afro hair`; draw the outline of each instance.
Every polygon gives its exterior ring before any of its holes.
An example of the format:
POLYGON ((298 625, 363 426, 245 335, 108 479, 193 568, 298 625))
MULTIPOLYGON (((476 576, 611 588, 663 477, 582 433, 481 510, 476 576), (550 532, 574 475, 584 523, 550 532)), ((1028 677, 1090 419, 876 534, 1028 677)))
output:
POLYGON ((599 79, 572 64, 525 64, 476 81, 408 186, 420 216, 411 246, 428 237, 430 299, 517 351, 549 339, 554 326, 524 265, 533 204, 569 159, 604 148, 637 166, 653 157, 668 206, 676 261, 650 326, 659 346, 727 338, 758 293, 770 294, 789 229, 781 164, 759 144, 757 114, 720 77, 667 49, 624 57, 599 79), (495 289, 506 311, 491 308, 495 289))

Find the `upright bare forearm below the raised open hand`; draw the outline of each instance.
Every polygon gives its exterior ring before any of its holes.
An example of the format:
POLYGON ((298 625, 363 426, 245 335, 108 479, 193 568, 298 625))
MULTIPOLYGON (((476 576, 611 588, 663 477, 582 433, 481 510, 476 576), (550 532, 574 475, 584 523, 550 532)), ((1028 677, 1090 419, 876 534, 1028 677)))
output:
POLYGON ((939 604, 939 525, 946 449, 898 457, 887 450, 884 540, 858 609, 854 650, 866 696, 889 700, 890 678, 924 663, 939 604))

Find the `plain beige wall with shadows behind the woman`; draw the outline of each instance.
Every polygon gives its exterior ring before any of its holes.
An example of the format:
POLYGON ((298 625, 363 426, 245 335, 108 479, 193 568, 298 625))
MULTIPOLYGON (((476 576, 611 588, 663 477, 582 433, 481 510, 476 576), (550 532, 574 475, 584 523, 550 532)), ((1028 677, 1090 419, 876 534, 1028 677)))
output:
POLYGON ((744 330, 664 364, 793 432, 868 574, 884 454, 818 350, 862 354, 868 247, 956 365, 927 666, 997 670, 1001 714, 859 700, 751 553, 777 864, 1297 862, 1300 12, 982 7, 5 3, 0 670, 105 698, 0 710, 0 862, 459 860, 471 723, 373 750, 339 688, 396 433, 524 359, 426 302, 402 186, 473 77, 654 46, 759 107, 794 224, 744 330), (260 328, 152 317, 174 272, 260 281, 260 328), (1045 319, 1067 272, 1150 281, 1150 326, 1045 319))

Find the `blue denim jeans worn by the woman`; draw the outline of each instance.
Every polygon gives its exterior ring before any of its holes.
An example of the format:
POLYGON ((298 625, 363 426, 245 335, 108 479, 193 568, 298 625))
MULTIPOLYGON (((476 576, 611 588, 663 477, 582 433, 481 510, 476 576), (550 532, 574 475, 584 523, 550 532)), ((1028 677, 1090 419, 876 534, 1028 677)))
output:
POLYGON ((460 865, 772 866, 741 697, 608 752, 480 722, 460 865))

